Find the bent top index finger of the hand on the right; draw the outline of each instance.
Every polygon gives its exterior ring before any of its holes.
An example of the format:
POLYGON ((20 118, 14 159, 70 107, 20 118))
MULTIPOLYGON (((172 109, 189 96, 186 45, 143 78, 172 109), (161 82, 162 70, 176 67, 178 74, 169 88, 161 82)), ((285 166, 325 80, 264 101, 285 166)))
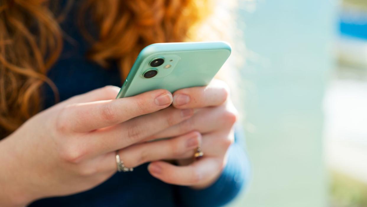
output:
POLYGON ((203 108, 219 106, 228 97, 229 89, 225 82, 214 79, 208 86, 184 88, 173 93, 173 106, 176 108, 203 108))

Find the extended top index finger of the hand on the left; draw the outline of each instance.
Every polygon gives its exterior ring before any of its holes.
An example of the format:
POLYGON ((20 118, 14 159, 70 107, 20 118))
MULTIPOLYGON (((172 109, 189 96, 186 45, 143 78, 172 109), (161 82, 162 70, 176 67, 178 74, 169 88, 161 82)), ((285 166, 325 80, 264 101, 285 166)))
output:
POLYGON ((159 89, 121 99, 72 104, 61 111, 57 127, 66 131, 89 132, 159 111, 171 103, 172 94, 159 89))

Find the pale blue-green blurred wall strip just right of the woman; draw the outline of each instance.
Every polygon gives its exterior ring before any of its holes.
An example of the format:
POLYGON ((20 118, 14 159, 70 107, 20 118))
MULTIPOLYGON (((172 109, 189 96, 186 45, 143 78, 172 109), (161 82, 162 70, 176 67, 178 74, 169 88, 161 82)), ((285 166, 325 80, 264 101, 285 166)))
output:
POLYGON ((241 68, 252 179, 231 206, 323 207, 322 101, 333 68, 331 0, 240 1, 241 68), (246 8, 245 11, 243 8, 246 8))

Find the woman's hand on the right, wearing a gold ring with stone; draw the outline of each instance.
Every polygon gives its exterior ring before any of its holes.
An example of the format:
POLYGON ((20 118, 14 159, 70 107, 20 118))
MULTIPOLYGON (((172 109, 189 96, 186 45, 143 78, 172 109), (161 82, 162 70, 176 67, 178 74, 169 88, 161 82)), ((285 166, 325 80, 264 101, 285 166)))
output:
MULTIPOLYGON (((216 79, 208 86, 181 89, 173 95, 174 107, 194 108, 195 114, 149 139, 197 131, 202 135, 201 150, 204 156, 200 160, 178 160, 181 166, 155 161, 149 165, 148 170, 154 177, 166 183, 195 189, 206 188, 218 179, 226 165, 226 152, 234 141, 233 125, 237 120, 237 111, 229 99, 228 86, 216 79)), ((195 151, 189 153, 191 154, 183 157, 193 157, 195 151)))

